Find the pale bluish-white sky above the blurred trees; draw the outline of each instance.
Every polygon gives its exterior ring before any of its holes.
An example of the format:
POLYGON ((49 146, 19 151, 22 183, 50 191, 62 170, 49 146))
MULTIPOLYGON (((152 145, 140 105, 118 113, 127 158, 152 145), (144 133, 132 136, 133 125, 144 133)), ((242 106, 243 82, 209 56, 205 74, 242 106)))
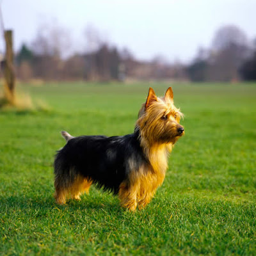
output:
MULTIPOLYGON (((163 56, 193 60, 199 47, 211 47, 221 26, 235 25, 256 38, 256 0, 0 0, 4 29, 13 29, 14 48, 31 44, 42 24, 58 24, 71 38, 69 51, 84 52, 85 28, 127 47, 140 60, 163 56)), ((4 49, 3 38, 0 51, 4 49)), ((67 50, 68 51, 68 50, 67 50)))

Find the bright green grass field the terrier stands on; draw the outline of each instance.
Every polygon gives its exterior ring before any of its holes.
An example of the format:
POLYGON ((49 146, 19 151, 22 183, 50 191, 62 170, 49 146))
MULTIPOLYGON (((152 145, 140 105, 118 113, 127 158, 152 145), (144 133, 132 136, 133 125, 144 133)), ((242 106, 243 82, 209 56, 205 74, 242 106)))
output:
POLYGON ((95 187, 55 204, 60 131, 131 133, 149 86, 170 84, 19 86, 48 107, 0 110, 1 255, 256 254, 256 84, 172 84, 186 135, 145 209, 95 187))

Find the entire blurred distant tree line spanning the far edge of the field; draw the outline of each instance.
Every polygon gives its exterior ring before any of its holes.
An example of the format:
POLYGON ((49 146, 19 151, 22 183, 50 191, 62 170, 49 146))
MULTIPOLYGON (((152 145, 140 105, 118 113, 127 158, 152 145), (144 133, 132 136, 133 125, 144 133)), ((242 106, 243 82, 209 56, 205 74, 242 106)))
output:
POLYGON ((220 28, 211 49, 199 49, 189 65, 168 63, 157 56, 139 61, 128 49, 117 49, 86 28, 84 52, 67 55, 68 33, 54 26, 41 28, 31 44, 16 55, 17 76, 45 80, 124 81, 125 79, 175 79, 191 81, 256 80, 256 41, 248 42, 236 26, 220 28))

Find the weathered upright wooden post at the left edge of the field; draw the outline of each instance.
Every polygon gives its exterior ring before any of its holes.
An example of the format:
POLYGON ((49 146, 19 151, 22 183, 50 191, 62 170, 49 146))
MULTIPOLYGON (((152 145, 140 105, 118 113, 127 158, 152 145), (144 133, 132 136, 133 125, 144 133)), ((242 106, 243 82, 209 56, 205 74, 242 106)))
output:
POLYGON ((5 51, 5 65, 4 65, 4 78, 6 81, 6 86, 8 90, 8 94, 6 95, 7 98, 11 97, 9 100, 14 99, 14 92, 15 92, 15 72, 14 72, 14 65, 13 65, 13 41, 12 41, 12 30, 4 31, 4 39, 6 45, 5 51), (8 97, 9 96, 9 97, 8 97))

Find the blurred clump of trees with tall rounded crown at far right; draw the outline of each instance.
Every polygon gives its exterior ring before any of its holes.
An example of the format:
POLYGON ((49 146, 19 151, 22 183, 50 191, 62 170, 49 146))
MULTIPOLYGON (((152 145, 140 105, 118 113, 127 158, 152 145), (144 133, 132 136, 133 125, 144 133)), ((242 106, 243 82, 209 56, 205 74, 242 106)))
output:
POLYGON ((248 42, 236 26, 224 26, 211 49, 199 49, 186 70, 191 81, 256 80, 256 42, 248 42))

